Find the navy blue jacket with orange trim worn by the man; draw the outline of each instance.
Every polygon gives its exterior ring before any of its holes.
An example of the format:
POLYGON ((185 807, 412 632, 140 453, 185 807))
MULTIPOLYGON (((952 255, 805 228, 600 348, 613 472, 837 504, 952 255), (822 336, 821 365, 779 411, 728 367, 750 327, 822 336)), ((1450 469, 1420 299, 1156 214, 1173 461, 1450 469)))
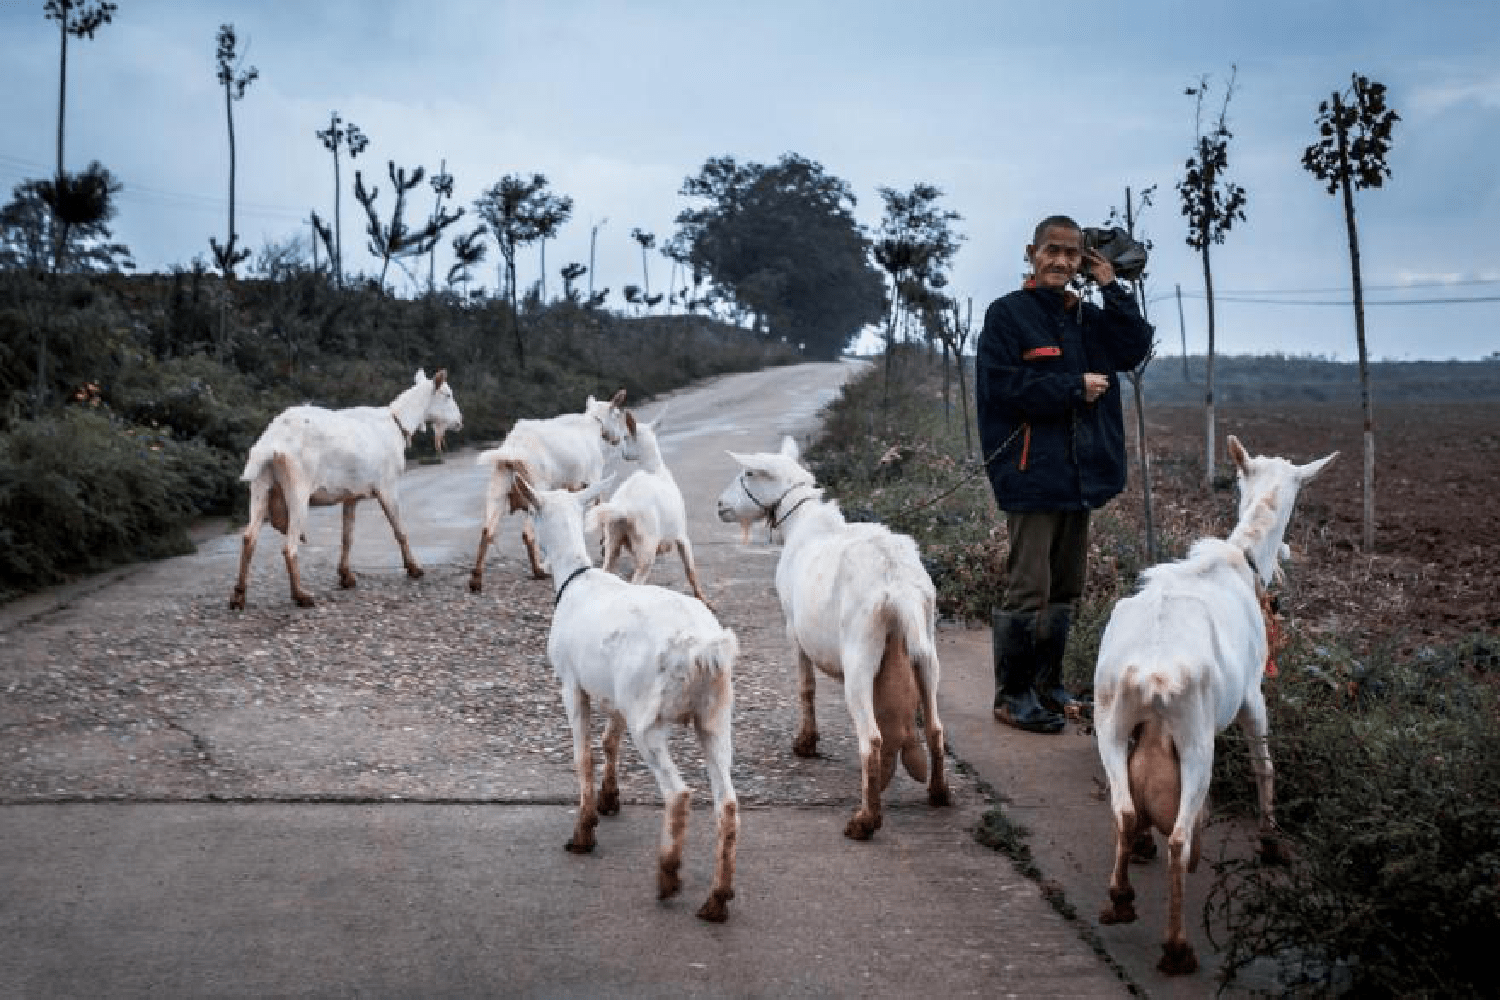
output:
POLYGON ((1102 294, 1102 309, 1086 301, 1065 309, 1059 292, 1023 288, 984 313, 975 400, 1004 511, 1090 510, 1125 489, 1118 373, 1146 360, 1152 327, 1124 285, 1102 294), (1092 403, 1083 399, 1084 372, 1110 376, 1092 403))

